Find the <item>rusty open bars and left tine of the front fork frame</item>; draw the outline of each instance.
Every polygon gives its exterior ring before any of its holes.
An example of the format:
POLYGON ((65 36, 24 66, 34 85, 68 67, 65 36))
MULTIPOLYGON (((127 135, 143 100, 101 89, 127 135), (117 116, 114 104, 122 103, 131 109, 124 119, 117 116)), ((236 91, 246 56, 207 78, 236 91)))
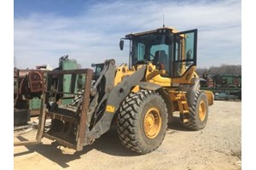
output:
MULTIPOLYGON (((92 81, 92 70, 90 69, 80 69, 80 70, 69 70, 69 71, 49 71, 47 75, 47 80, 46 80, 46 89, 44 90, 44 93, 42 95, 42 105, 41 105, 41 110, 40 110, 40 115, 39 115, 39 124, 38 124, 38 133, 36 136, 35 140, 30 140, 30 141, 20 141, 20 142, 15 142, 15 146, 18 145, 26 145, 26 144, 39 144, 41 143, 41 139, 43 137, 48 138, 48 139, 55 139, 58 143, 63 144, 64 146, 70 147, 74 150, 83 150, 84 146, 84 139, 85 139, 85 129, 86 129, 86 118, 87 118, 87 112, 88 112, 88 107, 89 107, 89 99, 90 99, 90 86, 91 86, 91 81, 92 81), (84 84, 84 95, 83 95, 83 101, 82 101, 82 110, 80 113, 80 116, 77 117, 71 117, 67 115, 61 115, 60 113, 55 113, 52 111, 48 111, 46 109, 46 96, 48 93, 51 91, 49 90, 49 77, 53 76, 60 76, 60 75, 65 75, 65 74, 72 74, 72 75, 77 75, 77 74, 85 74, 86 75, 86 81, 84 84), (71 144, 64 139, 60 139, 55 137, 54 135, 50 135, 48 133, 44 133, 44 126, 45 126, 45 119, 46 116, 49 116, 54 119, 58 120, 65 120, 67 122, 79 122, 79 128, 77 131, 77 139, 76 139, 76 144, 71 144)), ((74 83, 74 82, 71 82, 74 83)), ((55 92, 59 94, 63 94, 61 92, 55 92)), ((65 94, 65 93, 64 93, 65 94)), ((67 93, 67 94, 75 94, 74 92, 67 93)))

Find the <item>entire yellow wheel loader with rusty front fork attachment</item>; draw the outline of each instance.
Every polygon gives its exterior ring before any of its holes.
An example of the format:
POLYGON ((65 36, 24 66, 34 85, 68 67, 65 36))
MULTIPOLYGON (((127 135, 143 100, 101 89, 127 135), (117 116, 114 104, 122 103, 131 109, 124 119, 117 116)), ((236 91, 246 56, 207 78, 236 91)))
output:
POLYGON ((120 39, 121 50, 125 41, 128 65, 108 59, 93 65, 95 71, 49 71, 37 138, 15 145, 38 144, 44 137, 83 150, 116 125, 126 148, 147 154, 160 146, 176 111, 184 127, 204 128, 213 94, 201 91, 195 73, 197 30, 131 33, 120 39))

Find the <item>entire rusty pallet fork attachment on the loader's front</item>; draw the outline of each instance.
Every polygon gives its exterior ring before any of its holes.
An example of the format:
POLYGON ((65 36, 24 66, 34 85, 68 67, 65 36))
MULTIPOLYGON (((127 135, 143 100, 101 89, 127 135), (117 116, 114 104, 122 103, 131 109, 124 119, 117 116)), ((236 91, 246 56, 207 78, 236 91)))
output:
POLYGON ((15 142, 14 145, 40 144, 42 138, 45 137, 74 150, 83 150, 85 131, 88 128, 86 118, 90 104, 92 76, 90 69, 49 71, 46 77, 46 87, 41 97, 42 105, 36 139, 15 142), (84 90, 78 93, 77 86, 81 77, 85 79, 84 90), (66 91, 63 90, 64 83, 69 83, 67 87, 70 88, 66 91), (81 98, 78 106, 61 105, 61 100, 73 100, 76 96, 81 98), (49 99, 53 100, 49 101, 49 99), (49 103, 52 104, 51 107, 49 103), (55 103, 58 103, 58 108, 53 107, 55 103), (49 130, 45 129, 46 118, 51 119, 49 130))

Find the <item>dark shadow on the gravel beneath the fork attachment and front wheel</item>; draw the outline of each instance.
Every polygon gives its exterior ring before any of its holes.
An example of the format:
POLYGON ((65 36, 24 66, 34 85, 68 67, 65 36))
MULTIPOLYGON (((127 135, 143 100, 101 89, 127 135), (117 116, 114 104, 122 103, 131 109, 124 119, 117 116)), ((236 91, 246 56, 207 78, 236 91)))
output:
MULTIPOLYGON (((20 141, 27 140, 22 136, 16 138, 20 141)), ((98 150, 113 156, 140 156, 139 154, 126 149, 125 146, 121 144, 116 128, 111 128, 108 133, 103 134, 100 139, 96 139, 93 144, 85 145, 84 150, 73 152, 72 154, 63 153, 60 144, 55 141, 51 144, 34 144, 26 145, 25 147, 27 151, 16 153, 14 156, 23 156, 38 152, 38 154, 45 156, 50 161, 54 161, 63 168, 69 167, 67 162, 80 159, 82 155, 90 152, 90 150, 98 150)))

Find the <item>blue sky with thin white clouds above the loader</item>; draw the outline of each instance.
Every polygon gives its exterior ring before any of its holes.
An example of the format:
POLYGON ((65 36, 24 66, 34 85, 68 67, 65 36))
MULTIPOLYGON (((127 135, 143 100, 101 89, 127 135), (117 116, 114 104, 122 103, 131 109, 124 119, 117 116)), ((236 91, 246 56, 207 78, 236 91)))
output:
POLYGON ((68 54, 83 68, 113 58, 128 62, 119 38, 163 25, 198 29, 198 67, 241 65, 241 1, 15 0, 14 56, 18 68, 50 65, 68 54))

